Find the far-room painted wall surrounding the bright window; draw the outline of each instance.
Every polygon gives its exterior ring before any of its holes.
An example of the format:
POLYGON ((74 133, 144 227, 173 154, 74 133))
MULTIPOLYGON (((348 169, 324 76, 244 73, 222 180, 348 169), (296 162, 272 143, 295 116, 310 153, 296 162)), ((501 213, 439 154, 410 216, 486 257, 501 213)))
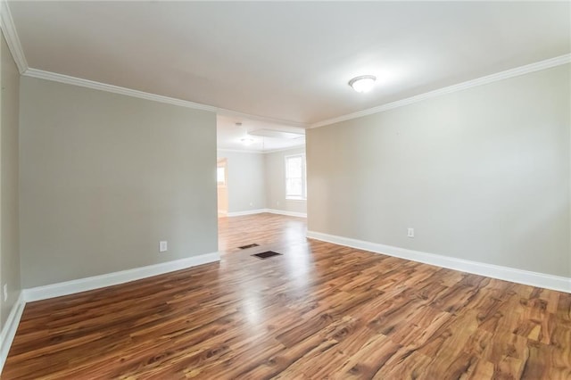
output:
POLYGON ((305 147, 265 154, 267 207, 273 210, 307 212, 307 201, 285 199, 285 156, 305 153, 305 147))

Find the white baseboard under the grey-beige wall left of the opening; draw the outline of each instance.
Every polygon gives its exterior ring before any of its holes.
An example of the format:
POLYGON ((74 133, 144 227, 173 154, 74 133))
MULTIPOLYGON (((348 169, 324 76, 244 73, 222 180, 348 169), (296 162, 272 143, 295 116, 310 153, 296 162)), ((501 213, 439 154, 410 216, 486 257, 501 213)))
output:
POLYGON ((22 293, 25 302, 46 300, 48 298, 86 292, 88 290, 94 290, 105 286, 128 283, 130 281, 162 275, 175 270, 191 268, 219 260, 219 252, 206 253, 200 256, 161 262, 147 267, 121 270, 119 272, 108 273, 101 276, 79 278, 77 280, 65 281, 58 284, 37 286, 30 289, 24 289, 22 293))

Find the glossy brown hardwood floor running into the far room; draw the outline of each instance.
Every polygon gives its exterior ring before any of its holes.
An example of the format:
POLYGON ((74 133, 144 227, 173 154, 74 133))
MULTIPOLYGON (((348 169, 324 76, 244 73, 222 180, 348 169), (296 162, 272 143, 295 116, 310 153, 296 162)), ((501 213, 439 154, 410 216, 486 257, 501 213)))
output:
POLYGON ((571 379, 571 294, 308 241, 304 219, 219 235, 219 263, 29 303, 2 378, 571 379))

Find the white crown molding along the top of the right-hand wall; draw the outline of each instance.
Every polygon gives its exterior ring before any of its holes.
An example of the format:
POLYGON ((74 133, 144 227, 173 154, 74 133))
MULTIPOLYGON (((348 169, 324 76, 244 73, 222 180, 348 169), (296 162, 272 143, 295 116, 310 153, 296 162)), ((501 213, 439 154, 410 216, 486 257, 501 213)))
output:
POLYGON ((319 128, 324 127, 330 124, 335 124, 340 121, 352 120, 361 118, 363 116, 372 115, 379 112, 385 112, 388 110, 393 110, 394 108, 402 107, 405 105, 409 105, 412 103, 418 103, 426 99, 430 99, 436 96, 447 95, 451 93, 455 93, 457 91, 462 91, 471 87, 487 85, 492 82, 497 82, 502 79, 513 78, 520 75, 528 74, 534 71, 550 69, 555 66, 560 66, 562 64, 566 64, 571 62, 571 54, 560 55, 559 57, 551 58, 549 60, 530 63, 525 66, 520 66, 515 69, 505 70, 501 72, 497 72, 492 75, 487 75, 485 77, 476 78, 472 80, 468 80, 466 82, 459 83, 457 85, 452 85, 449 87, 439 88, 434 91, 427 92, 425 94, 414 95, 406 99, 397 100, 396 102, 392 103, 385 103, 382 105, 378 105, 377 107, 368 108, 367 110, 363 110, 360 112, 352 112, 343 116, 339 116, 333 119, 322 120, 317 123, 311 124, 310 128, 319 128))

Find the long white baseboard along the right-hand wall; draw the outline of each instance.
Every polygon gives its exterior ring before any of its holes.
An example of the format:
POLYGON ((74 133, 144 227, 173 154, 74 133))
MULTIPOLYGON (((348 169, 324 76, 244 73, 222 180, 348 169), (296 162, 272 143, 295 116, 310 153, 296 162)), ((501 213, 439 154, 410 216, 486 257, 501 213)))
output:
POLYGON ((450 268, 484 277, 498 278, 518 284, 539 286, 559 292, 571 293, 571 278, 547 275, 529 270, 502 267, 484 262, 456 259, 434 253, 412 251, 391 245, 377 244, 349 237, 308 231, 307 237, 327 243, 344 245, 369 252, 383 253, 401 259, 423 262, 437 267, 450 268))

